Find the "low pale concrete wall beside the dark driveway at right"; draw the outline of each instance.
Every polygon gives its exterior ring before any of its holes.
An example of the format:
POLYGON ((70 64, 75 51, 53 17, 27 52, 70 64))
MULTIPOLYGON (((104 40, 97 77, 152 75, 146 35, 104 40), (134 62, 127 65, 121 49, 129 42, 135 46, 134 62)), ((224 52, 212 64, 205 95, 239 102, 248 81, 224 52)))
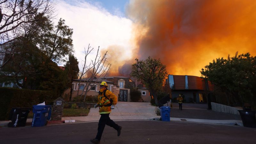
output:
POLYGON ((218 103, 211 102, 212 105, 212 111, 217 111, 217 112, 222 112, 222 113, 229 113, 229 114, 234 114, 234 115, 240 115, 237 110, 242 110, 239 108, 234 108, 218 103))

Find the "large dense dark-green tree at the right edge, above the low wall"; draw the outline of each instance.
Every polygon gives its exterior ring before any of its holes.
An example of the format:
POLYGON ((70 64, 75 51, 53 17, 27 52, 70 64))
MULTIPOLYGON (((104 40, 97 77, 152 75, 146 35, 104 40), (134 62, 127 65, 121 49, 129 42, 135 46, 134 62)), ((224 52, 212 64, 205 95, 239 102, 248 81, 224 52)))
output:
POLYGON ((240 55, 236 52, 234 57, 218 58, 204 68, 200 71, 202 76, 220 87, 228 101, 233 100, 237 105, 236 101, 255 105, 256 57, 249 52, 240 55))

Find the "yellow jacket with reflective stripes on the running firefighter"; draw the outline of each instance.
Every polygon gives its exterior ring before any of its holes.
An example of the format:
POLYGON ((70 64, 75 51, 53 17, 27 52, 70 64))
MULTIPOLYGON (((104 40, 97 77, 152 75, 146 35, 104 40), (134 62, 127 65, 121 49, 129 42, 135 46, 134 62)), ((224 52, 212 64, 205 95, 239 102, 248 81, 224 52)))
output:
POLYGON ((98 95, 98 105, 100 106, 100 114, 109 114, 111 112, 111 102, 112 102, 112 105, 116 105, 117 103, 117 97, 114 93, 112 93, 111 91, 109 90, 106 90, 106 97, 104 96, 103 92, 104 92, 105 89, 100 89, 100 92, 99 92, 99 95, 98 95))

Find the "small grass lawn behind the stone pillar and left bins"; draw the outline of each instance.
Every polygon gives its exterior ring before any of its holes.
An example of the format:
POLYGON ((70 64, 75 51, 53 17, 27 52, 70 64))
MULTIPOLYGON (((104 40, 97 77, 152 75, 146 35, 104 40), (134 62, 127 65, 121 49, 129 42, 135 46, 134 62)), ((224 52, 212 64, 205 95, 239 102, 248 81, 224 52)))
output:
MULTIPOLYGON (((62 117, 69 117, 69 116, 87 116, 90 112, 90 109, 71 109, 71 108, 64 108, 62 112, 62 117)), ((28 118, 33 118, 32 110, 28 113, 28 118)))

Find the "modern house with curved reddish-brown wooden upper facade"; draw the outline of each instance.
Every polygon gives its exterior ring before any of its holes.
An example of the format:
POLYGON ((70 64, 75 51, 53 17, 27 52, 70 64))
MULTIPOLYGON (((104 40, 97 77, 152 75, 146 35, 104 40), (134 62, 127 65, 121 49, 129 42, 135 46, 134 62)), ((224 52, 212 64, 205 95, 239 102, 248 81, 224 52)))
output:
POLYGON ((172 100, 181 94, 185 102, 207 102, 205 92, 214 89, 211 82, 198 76, 168 75, 166 83, 172 88, 172 100))

